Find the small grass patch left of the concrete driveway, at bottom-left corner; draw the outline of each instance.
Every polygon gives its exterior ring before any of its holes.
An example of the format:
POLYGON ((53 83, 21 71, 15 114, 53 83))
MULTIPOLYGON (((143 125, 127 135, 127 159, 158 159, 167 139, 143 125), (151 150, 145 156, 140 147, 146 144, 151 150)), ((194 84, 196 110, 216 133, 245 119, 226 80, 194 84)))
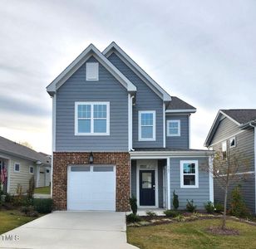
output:
POLYGON ((36 217, 26 217, 17 211, 0 211, 0 234, 31 222, 36 217))

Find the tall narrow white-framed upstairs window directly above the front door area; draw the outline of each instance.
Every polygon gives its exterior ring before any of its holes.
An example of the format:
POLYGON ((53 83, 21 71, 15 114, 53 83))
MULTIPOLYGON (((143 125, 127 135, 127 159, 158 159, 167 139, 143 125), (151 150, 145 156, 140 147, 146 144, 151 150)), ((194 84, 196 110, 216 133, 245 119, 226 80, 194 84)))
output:
POLYGON ((139 111, 139 141, 155 141, 155 110, 139 111))

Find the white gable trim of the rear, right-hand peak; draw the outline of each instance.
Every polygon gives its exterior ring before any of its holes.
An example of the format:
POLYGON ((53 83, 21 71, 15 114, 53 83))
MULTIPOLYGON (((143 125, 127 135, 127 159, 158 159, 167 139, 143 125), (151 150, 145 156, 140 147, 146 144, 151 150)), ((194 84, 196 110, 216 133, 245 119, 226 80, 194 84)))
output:
POLYGON ((102 52, 102 54, 106 57, 111 55, 111 51, 116 50, 121 56, 129 62, 130 66, 135 68, 135 71, 140 73, 140 75, 145 79, 145 83, 150 86, 152 90, 158 90, 161 94, 161 97, 164 101, 170 101, 171 97, 170 95, 160 86, 158 85, 138 64, 133 61, 130 56, 126 54, 125 51, 121 49, 120 46, 116 44, 115 41, 112 41, 109 46, 106 47, 106 49, 102 52), (153 87, 152 87, 153 86, 153 87))

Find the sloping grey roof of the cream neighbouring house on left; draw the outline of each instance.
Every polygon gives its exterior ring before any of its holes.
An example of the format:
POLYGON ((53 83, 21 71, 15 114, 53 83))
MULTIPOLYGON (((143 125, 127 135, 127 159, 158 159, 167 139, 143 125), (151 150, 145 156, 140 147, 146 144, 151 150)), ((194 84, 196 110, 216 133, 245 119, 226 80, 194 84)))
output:
POLYGON ((37 153, 37 151, 30 149, 22 144, 17 144, 9 139, 0 136, 0 153, 12 154, 22 159, 28 159, 32 162, 41 162, 47 166, 51 166, 51 160, 46 156, 37 153))

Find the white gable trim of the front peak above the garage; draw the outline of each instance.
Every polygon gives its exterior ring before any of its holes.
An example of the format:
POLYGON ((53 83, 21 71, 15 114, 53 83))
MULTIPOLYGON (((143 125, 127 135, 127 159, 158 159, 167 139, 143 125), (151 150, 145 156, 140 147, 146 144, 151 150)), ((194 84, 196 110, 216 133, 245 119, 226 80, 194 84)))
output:
POLYGON ((111 61, 107 60, 105 56, 101 54, 96 46, 93 44, 86 47, 84 51, 81 52, 79 56, 76 57, 74 61, 71 62, 69 66, 66 67, 62 73, 57 76, 57 78, 52 81, 50 85, 47 86, 47 92, 49 95, 54 95, 56 90, 65 83, 65 81, 83 64, 86 60, 91 57, 95 56, 96 59, 101 62, 103 66, 106 67, 108 71, 111 72, 113 76, 116 77, 118 81, 121 82, 122 85, 126 87, 128 91, 135 91, 136 87, 133 85, 127 78, 124 76, 121 71, 119 71, 116 66, 114 66, 111 61))

